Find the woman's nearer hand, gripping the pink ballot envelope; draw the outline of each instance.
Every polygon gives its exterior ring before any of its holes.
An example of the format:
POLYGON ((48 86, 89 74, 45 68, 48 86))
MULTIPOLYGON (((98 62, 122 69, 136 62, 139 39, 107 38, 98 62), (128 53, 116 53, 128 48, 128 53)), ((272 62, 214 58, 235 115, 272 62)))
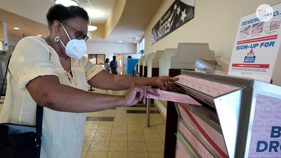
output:
POLYGON ((126 94, 123 95, 124 105, 126 107, 129 107, 137 104, 140 101, 145 104, 147 93, 159 96, 157 90, 148 86, 140 85, 138 83, 133 83, 133 85, 131 85, 130 89, 126 92, 126 94))

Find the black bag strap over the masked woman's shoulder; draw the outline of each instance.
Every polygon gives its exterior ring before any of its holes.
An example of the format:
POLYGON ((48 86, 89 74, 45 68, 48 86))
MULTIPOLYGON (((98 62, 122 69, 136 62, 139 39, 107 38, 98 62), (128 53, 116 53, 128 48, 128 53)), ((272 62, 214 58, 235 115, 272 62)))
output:
MULTIPOLYGON (((16 48, 16 46, 15 46, 15 48, 16 48)), ((14 49, 13 49, 13 51, 14 51, 14 49)), ((11 53, 11 55, 9 57, 8 63, 7 63, 6 73, 5 73, 5 76, 4 76, 3 83, 2 83, 2 88, 1 88, 0 96, 2 95, 2 91, 3 91, 6 75, 7 75, 7 72, 8 72, 8 66, 9 66, 10 59, 12 57, 13 51, 12 51, 12 53, 11 53)), ((40 105, 37 104, 36 105, 36 136, 37 136, 37 138, 35 139, 35 142, 36 142, 35 148, 39 147, 39 144, 41 144, 42 121, 43 121, 43 107, 41 107, 40 105)))

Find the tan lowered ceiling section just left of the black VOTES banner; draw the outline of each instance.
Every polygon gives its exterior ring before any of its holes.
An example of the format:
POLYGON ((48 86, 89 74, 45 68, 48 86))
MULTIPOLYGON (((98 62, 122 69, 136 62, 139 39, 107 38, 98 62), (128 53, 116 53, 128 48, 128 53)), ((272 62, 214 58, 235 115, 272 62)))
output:
POLYGON ((135 39, 140 42, 162 2, 163 0, 127 0, 119 22, 105 40, 113 42, 120 37, 122 42, 134 43, 135 39))

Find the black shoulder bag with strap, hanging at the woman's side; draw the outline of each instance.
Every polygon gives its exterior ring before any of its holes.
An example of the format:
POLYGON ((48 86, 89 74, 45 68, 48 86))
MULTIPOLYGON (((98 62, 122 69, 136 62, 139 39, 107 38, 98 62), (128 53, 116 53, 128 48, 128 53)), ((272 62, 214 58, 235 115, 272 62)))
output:
MULTIPOLYGON (((6 74, 8 71, 11 56, 8 60, 0 96, 2 95, 2 90, 6 79, 6 74)), ((13 123, 0 123, 0 157, 40 157, 42 119, 43 107, 37 104, 36 126, 18 125, 13 123)))

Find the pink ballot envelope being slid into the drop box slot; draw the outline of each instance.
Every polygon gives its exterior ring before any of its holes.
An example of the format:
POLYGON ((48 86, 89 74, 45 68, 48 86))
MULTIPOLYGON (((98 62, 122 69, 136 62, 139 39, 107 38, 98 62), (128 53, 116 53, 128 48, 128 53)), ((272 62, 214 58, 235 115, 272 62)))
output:
POLYGON ((156 95, 147 93, 146 97, 152 98, 152 99, 167 100, 167 101, 172 101, 172 102, 201 105, 196 100, 191 98, 189 95, 184 95, 184 94, 174 93, 174 92, 168 92, 168 91, 164 91, 164 90, 158 90, 157 93, 159 93, 160 96, 156 96, 156 95))

